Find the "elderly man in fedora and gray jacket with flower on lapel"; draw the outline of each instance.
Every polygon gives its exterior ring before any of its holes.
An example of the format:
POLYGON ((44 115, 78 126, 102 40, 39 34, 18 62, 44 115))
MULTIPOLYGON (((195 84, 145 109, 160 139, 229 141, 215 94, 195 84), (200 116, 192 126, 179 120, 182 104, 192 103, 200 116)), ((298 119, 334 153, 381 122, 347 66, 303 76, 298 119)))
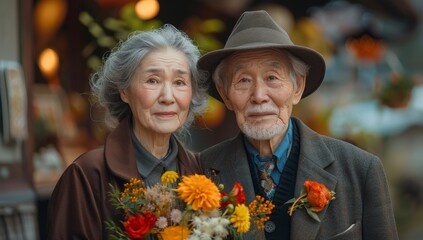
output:
POLYGON ((380 159, 291 117, 293 106, 324 78, 319 53, 294 45, 265 11, 251 11, 239 18, 225 47, 205 54, 198 66, 210 73, 217 90, 212 95, 219 94, 241 129, 200 153, 204 171, 225 189, 240 182, 247 202, 262 195, 276 205, 262 236, 248 238, 398 238, 380 159), (292 202, 286 202, 301 195, 306 181, 314 184, 307 190, 321 189, 323 202, 304 198, 314 208, 291 216, 292 202))

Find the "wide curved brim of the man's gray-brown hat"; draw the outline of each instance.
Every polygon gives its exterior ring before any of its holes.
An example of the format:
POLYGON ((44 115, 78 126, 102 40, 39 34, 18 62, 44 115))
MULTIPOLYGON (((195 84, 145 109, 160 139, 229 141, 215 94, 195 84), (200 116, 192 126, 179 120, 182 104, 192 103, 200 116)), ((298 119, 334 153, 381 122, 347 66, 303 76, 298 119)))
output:
POLYGON ((312 94, 316 89, 319 88, 322 83, 325 72, 326 64, 322 55, 311 48, 296 46, 296 45, 276 45, 276 44, 250 44, 249 46, 240 46, 230 49, 220 49, 204 54, 197 63, 200 70, 208 72, 207 81, 210 84, 209 94, 222 101, 219 93, 217 92, 215 84, 213 84, 212 75, 217 65, 226 57, 234 52, 248 51, 248 50, 259 50, 266 48, 283 49, 290 52, 295 57, 299 58, 305 64, 309 66, 309 71, 306 76, 306 85, 301 98, 305 98, 312 94))

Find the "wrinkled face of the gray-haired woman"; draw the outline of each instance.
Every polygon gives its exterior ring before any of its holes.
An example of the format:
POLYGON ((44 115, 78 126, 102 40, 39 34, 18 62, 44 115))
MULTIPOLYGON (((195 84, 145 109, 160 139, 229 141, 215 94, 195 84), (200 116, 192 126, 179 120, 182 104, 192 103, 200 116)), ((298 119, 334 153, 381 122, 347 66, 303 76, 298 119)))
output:
POLYGON ((135 131, 175 132, 184 124, 192 98, 187 57, 172 48, 154 50, 140 62, 120 95, 131 108, 135 131))

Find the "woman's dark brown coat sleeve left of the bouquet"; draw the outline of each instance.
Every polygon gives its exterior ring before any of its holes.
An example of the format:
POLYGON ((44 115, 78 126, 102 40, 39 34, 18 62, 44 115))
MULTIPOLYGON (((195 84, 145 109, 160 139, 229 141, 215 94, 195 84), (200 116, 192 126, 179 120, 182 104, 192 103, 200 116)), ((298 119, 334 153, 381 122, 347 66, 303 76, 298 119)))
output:
POLYGON ((102 217, 95 189, 82 169, 71 164, 49 202, 48 239, 102 239, 102 217))

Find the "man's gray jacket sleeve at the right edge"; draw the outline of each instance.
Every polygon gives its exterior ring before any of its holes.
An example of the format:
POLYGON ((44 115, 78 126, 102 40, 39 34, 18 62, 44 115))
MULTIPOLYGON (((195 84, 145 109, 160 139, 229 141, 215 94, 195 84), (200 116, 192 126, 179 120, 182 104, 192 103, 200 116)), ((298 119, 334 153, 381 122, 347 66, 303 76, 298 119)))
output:
POLYGON ((363 239, 398 239, 388 183, 379 159, 369 166, 363 195, 363 239))

